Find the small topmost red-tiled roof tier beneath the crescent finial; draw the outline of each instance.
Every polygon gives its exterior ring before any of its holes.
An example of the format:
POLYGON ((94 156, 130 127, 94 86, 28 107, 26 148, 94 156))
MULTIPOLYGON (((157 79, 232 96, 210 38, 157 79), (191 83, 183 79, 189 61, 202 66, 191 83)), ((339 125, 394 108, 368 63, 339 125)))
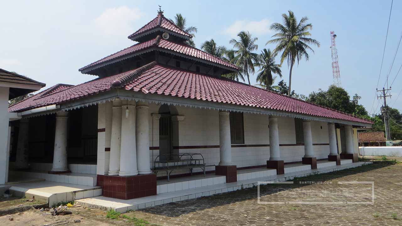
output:
POLYGON ((140 28, 138 31, 135 31, 133 34, 129 35, 128 38, 133 41, 138 41, 140 37, 143 37, 150 33, 154 33, 156 31, 167 32, 186 40, 193 37, 180 27, 177 27, 172 21, 170 21, 163 15, 162 11, 160 11, 158 12, 158 16, 156 16, 152 21, 144 25, 144 27, 140 28))

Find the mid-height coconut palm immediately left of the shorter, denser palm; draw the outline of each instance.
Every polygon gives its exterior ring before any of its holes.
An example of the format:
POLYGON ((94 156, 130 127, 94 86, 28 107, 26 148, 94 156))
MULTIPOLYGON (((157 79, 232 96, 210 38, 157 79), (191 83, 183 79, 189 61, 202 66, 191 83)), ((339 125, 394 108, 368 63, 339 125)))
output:
POLYGON ((237 36, 239 41, 231 39, 229 43, 235 48, 236 66, 242 69, 242 74, 247 76, 248 84, 250 85, 250 73, 255 72, 254 62, 258 59, 258 54, 252 51, 258 49, 258 45, 255 44, 258 38, 252 37, 248 31, 240 31, 237 36))

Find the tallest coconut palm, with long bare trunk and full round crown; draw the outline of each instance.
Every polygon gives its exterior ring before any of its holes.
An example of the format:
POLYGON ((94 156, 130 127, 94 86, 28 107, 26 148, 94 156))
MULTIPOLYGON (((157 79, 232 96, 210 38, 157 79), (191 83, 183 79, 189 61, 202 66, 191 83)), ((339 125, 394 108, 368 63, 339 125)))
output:
POLYGON ((309 44, 320 47, 320 42, 318 42, 316 39, 310 38, 311 33, 309 31, 313 28, 313 25, 311 25, 311 23, 306 23, 308 21, 307 16, 301 18, 299 23, 297 23, 297 19, 293 12, 291 10, 288 12, 289 15, 285 13, 282 14, 283 25, 280 23, 273 23, 271 25, 271 30, 278 33, 273 35, 272 37, 275 37, 275 39, 267 41, 267 44, 277 44, 276 48, 274 49, 274 53, 282 51, 281 65, 283 64, 283 61, 287 59, 287 65, 290 66, 288 93, 288 96, 290 96, 292 70, 295 61, 297 60, 298 65, 299 60, 301 60, 303 57, 308 60, 309 55, 307 50, 310 50, 314 53, 314 50, 309 46, 309 44))

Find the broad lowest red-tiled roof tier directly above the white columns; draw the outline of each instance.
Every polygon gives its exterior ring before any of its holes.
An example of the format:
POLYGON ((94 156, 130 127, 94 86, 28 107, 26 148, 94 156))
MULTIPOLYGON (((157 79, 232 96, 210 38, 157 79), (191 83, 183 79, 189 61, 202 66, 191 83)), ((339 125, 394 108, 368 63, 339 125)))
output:
POLYGON ((119 87, 117 88, 145 94, 155 93, 172 97, 275 109, 358 123, 373 123, 367 119, 279 95, 276 92, 263 90, 241 82, 178 70, 177 68, 158 65, 156 62, 121 74, 97 78, 35 100, 27 99, 10 107, 9 111, 25 111, 94 95, 98 92, 110 90, 115 80, 119 80, 119 84, 117 84, 119 87))

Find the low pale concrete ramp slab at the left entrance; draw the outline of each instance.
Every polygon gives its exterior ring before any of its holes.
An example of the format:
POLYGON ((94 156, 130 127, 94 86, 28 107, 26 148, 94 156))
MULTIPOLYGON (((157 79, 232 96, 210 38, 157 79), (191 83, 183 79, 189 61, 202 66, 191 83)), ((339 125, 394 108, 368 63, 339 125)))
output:
POLYGON ((53 181, 15 184, 9 190, 15 196, 25 196, 29 199, 35 197, 36 200, 49 203, 49 207, 58 203, 102 195, 101 187, 73 185, 53 181))

